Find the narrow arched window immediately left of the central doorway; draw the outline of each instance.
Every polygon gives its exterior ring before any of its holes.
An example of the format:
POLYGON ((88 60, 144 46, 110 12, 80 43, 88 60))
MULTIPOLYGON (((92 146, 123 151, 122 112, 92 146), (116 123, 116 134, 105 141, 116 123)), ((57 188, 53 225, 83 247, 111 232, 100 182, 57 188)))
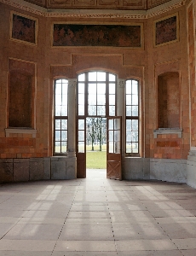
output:
POLYGON ((67 152, 67 91, 66 79, 55 80, 55 154, 67 152))

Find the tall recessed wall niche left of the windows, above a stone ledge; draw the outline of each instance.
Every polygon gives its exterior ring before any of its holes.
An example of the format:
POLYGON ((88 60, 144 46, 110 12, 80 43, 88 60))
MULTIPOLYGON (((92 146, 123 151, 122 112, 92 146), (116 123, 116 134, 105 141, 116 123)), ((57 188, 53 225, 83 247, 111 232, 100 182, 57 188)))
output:
POLYGON ((9 128, 33 128, 35 64, 9 60, 9 128))

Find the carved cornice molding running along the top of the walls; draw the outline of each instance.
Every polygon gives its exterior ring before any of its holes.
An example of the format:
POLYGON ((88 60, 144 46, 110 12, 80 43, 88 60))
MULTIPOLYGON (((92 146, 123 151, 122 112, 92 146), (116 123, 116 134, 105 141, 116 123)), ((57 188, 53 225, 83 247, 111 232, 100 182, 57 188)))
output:
POLYGON ((172 9, 190 3, 192 0, 172 0, 172 3, 164 3, 153 9, 146 10, 114 10, 114 9, 45 9, 32 3, 20 0, 0 0, 0 3, 8 4, 17 9, 25 10, 35 15, 54 18, 76 18, 76 19, 148 19, 164 14, 172 9))

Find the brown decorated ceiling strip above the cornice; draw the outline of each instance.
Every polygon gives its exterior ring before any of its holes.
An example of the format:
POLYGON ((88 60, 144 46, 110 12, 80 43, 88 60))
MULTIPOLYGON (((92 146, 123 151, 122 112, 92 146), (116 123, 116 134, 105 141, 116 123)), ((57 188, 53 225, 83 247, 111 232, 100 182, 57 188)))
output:
POLYGON ((25 0, 47 9, 147 10, 172 0, 25 0))

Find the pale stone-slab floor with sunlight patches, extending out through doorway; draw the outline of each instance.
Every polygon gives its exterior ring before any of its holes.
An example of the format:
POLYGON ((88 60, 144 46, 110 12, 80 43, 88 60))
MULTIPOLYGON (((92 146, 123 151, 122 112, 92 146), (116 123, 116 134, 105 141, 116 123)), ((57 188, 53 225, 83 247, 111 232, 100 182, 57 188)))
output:
POLYGON ((196 189, 86 179, 0 184, 1 256, 196 255, 196 189))

